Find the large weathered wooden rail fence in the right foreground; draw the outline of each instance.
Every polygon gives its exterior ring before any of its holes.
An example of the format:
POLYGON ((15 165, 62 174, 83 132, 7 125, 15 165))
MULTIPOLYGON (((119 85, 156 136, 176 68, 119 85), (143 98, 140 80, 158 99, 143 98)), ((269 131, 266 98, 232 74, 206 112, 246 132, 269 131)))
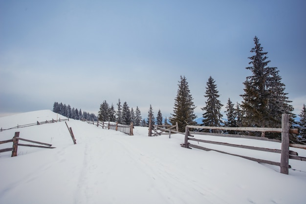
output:
MULTIPOLYGON (((282 115, 282 128, 262 128, 262 127, 212 127, 212 126, 194 126, 194 125, 187 125, 185 129, 185 141, 183 144, 181 144, 182 147, 190 148, 198 148, 206 151, 214 150, 220 153, 225 153, 225 154, 230 154, 238 157, 242 157, 245 159, 249 159, 252 161, 256 161, 259 163, 268 163, 272 165, 278 165, 281 167, 281 173, 288 174, 289 173, 289 159, 295 159, 295 160, 300 160, 300 161, 306 161, 305 157, 299 157, 297 152, 290 151, 289 146, 293 147, 298 147, 298 148, 306 148, 306 145, 292 145, 289 144, 289 133, 298 133, 297 129, 289 129, 289 115, 288 114, 283 114, 282 115), (199 134, 199 135, 216 135, 216 136, 223 136, 223 137, 228 137, 227 134, 214 134, 214 133, 201 133, 201 132, 190 132, 189 128, 193 129, 218 129, 218 130, 239 130, 239 131, 259 131, 259 132, 278 132, 282 133, 282 149, 268 149, 268 148, 262 148, 262 147, 254 147, 254 146, 246 146, 246 145, 238 145, 238 144, 230 144, 230 143, 220 143, 220 142, 214 142, 214 141, 206 141, 206 140, 200 140, 193 138, 194 136, 191 134, 199 134), (190 141, 197 141, 201 143, 212 143, 212 144, 219 144, 219 145, 226 145, 226 146, 233 146, 233 147, 239 147, 239 148, 246 148, 246 149, 253 149, 253 150, 260 150, 260 151, 267 151, 267 152, 275 152, 275 153, 280 153, 281 154, 281 162, 272 162, 272 161, 267 161, 267 160, 261 160, 261 159, 256 159, 256 158, 251 158, 251 157, 246 157, 242 155, 236 155, 236 154, 231 154, 227 153, 224 151, 219 151, 215 149, 209 149, 205 148, 199 145, 191 144, 188 143, 188 140, 190 141)), ((269 140, 267 138, 263 137, 253 137, 253 136, 243 136, 243 135, 230 135, 230 137, 237 137, 237 138, 247 138, 247 139, 256 139, 256 140, 269 140)), ((275 141, 275 140, 273 140, 275 141)))

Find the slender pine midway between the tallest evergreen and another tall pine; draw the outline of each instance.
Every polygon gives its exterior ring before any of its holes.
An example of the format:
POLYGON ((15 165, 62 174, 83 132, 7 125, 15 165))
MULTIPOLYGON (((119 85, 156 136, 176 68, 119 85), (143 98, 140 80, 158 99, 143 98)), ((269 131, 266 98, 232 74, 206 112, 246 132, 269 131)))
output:
MULTIPOLYGON (((218 100, 219 91, 217 90, 217 85, 215 80, 210 76, 208 82, 206 83, 206 91, 204 97, 207 98, 206 106, 201 108, 203 113, 203 125, 205 126, 220 126, 222 114, 220 113, 221 107, 223 106, 218 100)), ((213 131, 214 132, 214 131, 213 131)), ((216 131, 215 131, 216 132, 216 131)))

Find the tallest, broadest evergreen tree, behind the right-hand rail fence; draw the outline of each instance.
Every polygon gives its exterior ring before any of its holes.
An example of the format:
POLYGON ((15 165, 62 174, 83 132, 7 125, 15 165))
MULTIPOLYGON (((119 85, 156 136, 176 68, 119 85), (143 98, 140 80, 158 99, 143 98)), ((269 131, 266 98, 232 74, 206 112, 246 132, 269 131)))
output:
MULTIPOLYGON (((259 39, 254 38, 255 47, 251 49, 254 53, 249 57, 251 66, 246 69, 252 72, 243 83, 244 94, 240 95, 243 99, 241 108, 243 110, 243 125, 251 127, 281 127, 283 113, 291 113, 293 107, 289 104, 284 93, 284 83, 279 76, 276 67, 269 67, 267 52, 259 43, 259 39)), ((292 113, 291 113, 292 114, 292 113)), ((293 122, 293 114, 290 121, 293 122)), ((255 133, 259 136, 259 133, 255 133)), ((269 133, 268 137, 280 137, 275 133, 269 133)))

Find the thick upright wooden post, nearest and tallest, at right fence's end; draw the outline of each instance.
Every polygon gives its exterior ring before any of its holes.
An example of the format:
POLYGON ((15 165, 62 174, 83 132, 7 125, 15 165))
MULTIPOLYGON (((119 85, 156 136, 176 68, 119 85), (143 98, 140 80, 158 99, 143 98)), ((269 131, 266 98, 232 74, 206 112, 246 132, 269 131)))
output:
POLYGON ((282 114, 281 173, 289 174, 289 114, 282 114))

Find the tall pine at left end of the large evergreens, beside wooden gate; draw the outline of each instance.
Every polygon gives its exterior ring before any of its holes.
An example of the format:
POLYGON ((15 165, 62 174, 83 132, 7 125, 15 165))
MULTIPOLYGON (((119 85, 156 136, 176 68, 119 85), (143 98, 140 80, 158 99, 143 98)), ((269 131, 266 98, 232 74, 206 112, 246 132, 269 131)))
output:
POLYGON ((188 82, 185 76, 180 76, 173 110, 174 113, 171 114, 170 122, 172 124, 177 122, 178 131, 184 132, 186 125, 195 124, 194 120, 197 118, 194 113, 195 108, 196 106, 190 94, 188 82))

